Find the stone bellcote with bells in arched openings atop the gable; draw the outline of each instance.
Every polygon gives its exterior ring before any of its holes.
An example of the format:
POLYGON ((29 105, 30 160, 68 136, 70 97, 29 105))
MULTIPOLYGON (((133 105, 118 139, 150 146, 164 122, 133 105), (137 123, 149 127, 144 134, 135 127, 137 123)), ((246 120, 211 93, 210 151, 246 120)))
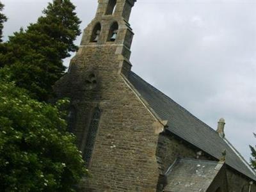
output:
POLYGON ((99 0, 95 18, 84 29, 77 54, 81 54, 86 47, 115 47, 113 51, 119 55, 120 61, 123 60, 120 67, 126 74, 131 69, 129 58, 134 33, 129 24, 129 17, 135 2, 136 0, 99 0))

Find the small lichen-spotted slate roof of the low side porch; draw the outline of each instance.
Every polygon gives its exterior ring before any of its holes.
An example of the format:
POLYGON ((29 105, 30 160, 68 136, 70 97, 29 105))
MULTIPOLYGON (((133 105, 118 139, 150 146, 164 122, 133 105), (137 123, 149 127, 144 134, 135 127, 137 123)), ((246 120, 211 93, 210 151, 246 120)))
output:
POLYGON ((177 159, 170 167, 164 191, 207 191, 223 164, 198 159, 177 159))

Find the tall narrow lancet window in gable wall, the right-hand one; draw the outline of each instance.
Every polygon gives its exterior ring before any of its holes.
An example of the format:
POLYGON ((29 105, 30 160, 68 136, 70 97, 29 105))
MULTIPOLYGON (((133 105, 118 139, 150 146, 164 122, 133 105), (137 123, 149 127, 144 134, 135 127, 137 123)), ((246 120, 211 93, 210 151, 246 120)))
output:
POLYGON ((86 138, 86 145, 84 148, 84 161, 87 167, 89 166, 92 158, 94 143, 95 143, 98 128, 99 128, 100 114, 101 114, 100 109, 98 107, 95 108, 93 111, 92 120, 88 130, 87 138, 86 138))

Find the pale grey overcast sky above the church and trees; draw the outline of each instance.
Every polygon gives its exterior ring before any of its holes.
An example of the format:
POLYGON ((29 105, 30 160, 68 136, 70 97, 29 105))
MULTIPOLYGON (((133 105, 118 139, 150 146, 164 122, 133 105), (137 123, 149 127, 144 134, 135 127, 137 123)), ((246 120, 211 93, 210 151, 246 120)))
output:
MULTIPOLYGON (((35 22, 49 1, 2 2, 7 40, 35 22)), ((97 1, 72 2, 84 29, 97 1)), ((256 0, 138 0, 130 20, 132 70, 213 129, 225 118, 228 140, 247 160, 248 145, 256 143, 255 10, 256 0)))

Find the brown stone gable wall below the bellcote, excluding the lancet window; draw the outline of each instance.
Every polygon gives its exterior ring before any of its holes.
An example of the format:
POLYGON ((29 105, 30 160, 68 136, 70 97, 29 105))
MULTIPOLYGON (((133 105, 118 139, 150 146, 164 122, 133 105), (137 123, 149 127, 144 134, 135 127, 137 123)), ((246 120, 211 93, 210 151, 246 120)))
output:
POLYGON ((82 152, 93 109, 102 111, 89 166, 92 178, 80 191, 156 191, 156 148, 163 125, 120 74, 117 46, 81 48, 55 86, 58 96, 70 97, 77 110, 72 127, 82 152))

